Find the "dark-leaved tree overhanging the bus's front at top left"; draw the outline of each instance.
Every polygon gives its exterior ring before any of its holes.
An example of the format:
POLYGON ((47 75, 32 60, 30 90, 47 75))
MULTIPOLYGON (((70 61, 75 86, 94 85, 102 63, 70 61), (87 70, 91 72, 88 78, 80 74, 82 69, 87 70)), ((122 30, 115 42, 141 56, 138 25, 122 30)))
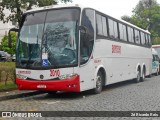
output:
MULTIPOLYGON (((14 21, 20 25, 23 11, 30 10, 33 6, 43 7, 55 5, 58 0, 2 0, 0 3, 0 20, 5 22, 14 21), (4 10, 9 9, 11 14, 5 16, 4 10)), ((61 2, 72 2, 72 0, 61 0, 61 2)))

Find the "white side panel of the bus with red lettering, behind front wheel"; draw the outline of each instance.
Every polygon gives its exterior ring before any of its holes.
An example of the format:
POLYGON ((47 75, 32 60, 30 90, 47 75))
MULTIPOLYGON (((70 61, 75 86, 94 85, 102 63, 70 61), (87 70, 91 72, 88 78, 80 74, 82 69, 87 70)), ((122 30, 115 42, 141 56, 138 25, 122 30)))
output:
POLYGON ((146 75, 152 70, 150 48, 111 40, 96 40, 94 59, 100 59, 105 66, 107 84, 136 78, 138 64, 146 65, 146 75))

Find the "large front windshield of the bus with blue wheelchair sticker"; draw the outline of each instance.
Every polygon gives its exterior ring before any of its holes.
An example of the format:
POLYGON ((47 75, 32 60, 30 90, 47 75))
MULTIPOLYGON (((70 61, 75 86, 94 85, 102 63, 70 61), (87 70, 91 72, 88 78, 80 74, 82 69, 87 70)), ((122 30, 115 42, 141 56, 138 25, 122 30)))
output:
POLYGON ((56 9, 23 15, 17 45, 17 67, 78 65, 79 9, 56 9))

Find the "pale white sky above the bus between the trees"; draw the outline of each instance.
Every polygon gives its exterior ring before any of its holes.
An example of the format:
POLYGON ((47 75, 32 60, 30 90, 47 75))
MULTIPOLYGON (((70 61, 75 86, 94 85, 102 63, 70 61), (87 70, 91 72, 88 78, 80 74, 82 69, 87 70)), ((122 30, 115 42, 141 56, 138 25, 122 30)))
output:
MULTIPOLYGON (((111 15, 115 18, 132 15, 139 0, 72 0, 74 4, 84 5, 111 15)), ((157 0, 160 3, 160 0, 157 0)))

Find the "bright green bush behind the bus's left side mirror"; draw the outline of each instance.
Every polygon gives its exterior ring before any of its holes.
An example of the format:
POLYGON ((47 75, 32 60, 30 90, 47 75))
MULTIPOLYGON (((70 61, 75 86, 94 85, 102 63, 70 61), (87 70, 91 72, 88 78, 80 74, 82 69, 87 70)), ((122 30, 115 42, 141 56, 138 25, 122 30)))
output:
POLYGON ((15 54, 16 53, 16 39, 17 39, 17 34, 15 32, 11 32, 11 38, 12 38, 12 48, 8 47, 8 36, 5 35, 2 38, 2 50, 5 52, 8 52, 9 54, 15 54))

